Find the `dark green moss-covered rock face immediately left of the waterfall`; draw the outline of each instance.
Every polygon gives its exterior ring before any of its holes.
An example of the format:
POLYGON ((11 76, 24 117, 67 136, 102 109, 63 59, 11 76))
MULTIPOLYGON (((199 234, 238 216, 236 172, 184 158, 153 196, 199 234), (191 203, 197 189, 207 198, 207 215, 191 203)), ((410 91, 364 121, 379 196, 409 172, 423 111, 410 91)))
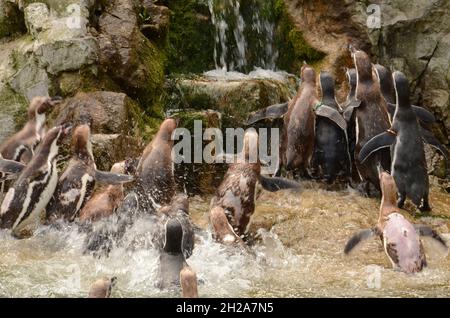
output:
POLYGON ((206 1, 170 1, 168 73, 201 73, 214 68, 214 27, 206 1))

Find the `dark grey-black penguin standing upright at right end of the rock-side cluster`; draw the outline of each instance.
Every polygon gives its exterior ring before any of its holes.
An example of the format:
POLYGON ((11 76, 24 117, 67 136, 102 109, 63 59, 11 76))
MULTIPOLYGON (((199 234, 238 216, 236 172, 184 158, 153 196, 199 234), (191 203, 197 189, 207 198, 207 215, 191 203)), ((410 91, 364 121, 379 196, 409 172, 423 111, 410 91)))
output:
POLYGON ((367 142, 359 153, 364 162, 371 153, 391 148, 391 173, 398 188, 398 207, 406 197, 421 211, 430 211, 427 162, 419 123, 409 102, 409 84, 401 72, 393 74, 397 107, 392 127, 367 142))

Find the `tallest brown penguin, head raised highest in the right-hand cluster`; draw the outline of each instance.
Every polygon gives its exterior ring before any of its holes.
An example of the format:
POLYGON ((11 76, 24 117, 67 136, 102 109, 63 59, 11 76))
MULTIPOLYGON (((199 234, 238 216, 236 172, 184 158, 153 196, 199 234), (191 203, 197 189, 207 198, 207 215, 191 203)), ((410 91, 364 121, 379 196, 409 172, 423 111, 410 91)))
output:
POLYGON ((388 170, 391 164, 388 149, 380 149, 373 153, 364 163, 358 161, 361 148, 374 136, 389 128, 389 116, 386 101, 381 95, 380 86, 374 81, 372 63, 369 56, 350 47, 356 68, 356 101, 352 107, 354 116, 350 114, 355 125, 355 165, 359 175, 366 182, 369 192, 369 182, 379 189, 377 165, 388 170))

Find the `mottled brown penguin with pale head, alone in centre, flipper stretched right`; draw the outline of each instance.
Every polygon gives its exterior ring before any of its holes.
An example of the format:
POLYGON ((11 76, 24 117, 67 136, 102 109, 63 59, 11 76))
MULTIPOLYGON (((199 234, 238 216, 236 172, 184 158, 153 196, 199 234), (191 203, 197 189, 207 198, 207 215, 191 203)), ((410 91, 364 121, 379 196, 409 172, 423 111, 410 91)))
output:
POLYGON ((269 178, 261 175, 261 163, 256 158, 258 133, 248 129, 244 136, 241 160, 232 163, 211 200, 211 208, 222 208, 234 232, 241 236, 246 232, 250 217, 255 211, 256 183, 271 192, 282 189, 299 189, 297 182, 283 178, 269 178), (254 155, 254 158, 252 156, 254 155))

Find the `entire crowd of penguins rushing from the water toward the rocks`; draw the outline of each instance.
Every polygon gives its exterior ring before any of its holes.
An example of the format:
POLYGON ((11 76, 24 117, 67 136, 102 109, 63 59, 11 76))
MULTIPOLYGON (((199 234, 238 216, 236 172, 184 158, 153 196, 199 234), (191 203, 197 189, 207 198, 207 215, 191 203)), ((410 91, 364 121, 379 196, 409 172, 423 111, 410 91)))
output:
MULTIPOLYGON (((218 242, 247 249, 257 184, 272 192, 300 189, 296 181, 280 177, 283 170, 301 177, 312 172, 330 183, 340 176, 349 178, 356 169, 360 181, 381 190, 382 203, 377 226, 355 234, 345 253, 363 239, 379 236, 393 266, 413 273, 426 265, 419 235, 445 246, 438 233, 413 226, 400 212, 406 197, 422 211, 430 210, 424 142, 447 156, 446 148, 426 129, 434 116, 410 104, 404 74, 391 75, 385 67, 373 65, 365 52, 350 52, 355 69, 347 70, 350 92, 343 107, 334 97, 331 74, 320 73, 319 99, 316 73, 305 64, 300 88, 290 102, 250 114, 249 125, 283 118, 280 167, 275 176, 267 176, 259 160, 249 160, 258 134, 248 129, 240 154, 246 160, 229 165, 211 200, 210 228, 218 242)), ((197 276, 186 259, 199 229, 191 221, 187 195, 177 191, 172 159, 178 120, 166 119, 140 158, 118 162, 111 172, 104 172, 95 165, 89 120, 47 131, 46 114, 59 103, 61 98, 35 97, 23 129, 0 145, 0 228, 24 238, 41 224, 77 222, 87 233, 85 252, 108 255, 139 217, 151 216, 157 225, 152 242, 160 251, 157 286, 181 287, 184 297, 198 297, 197 276), (70 134, 72 155, 59 174, 59 148, 70 134), (106 226, 105 220, 114 226, 106 226)), ((90 296, 108 297, 115 280, 95 282, 90 296)))

